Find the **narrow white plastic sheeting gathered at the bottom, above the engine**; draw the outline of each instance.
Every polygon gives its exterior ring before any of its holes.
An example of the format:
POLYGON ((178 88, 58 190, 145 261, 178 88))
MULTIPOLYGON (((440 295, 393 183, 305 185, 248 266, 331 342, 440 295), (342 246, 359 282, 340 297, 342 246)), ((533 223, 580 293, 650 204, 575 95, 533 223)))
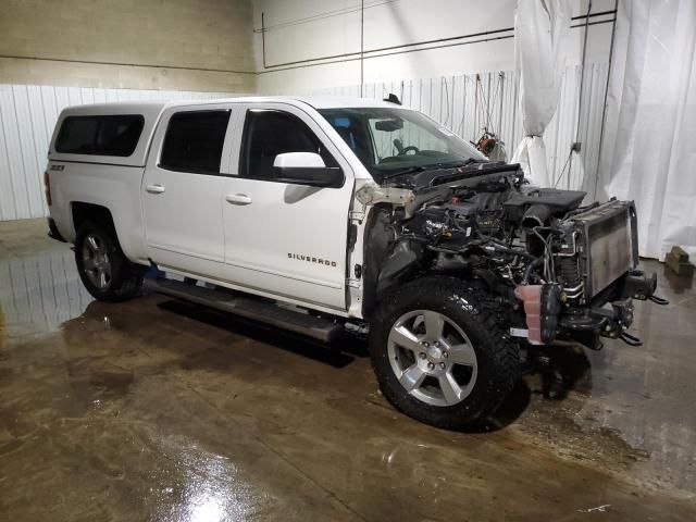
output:
POLYGON ((570 0, 519 0, 514 17, 514 61, 520 76, 524 137, 512 161, 522 165, 534 185, 543 187, 554 183, 542 135, 558 105, 570 15, 570 0))

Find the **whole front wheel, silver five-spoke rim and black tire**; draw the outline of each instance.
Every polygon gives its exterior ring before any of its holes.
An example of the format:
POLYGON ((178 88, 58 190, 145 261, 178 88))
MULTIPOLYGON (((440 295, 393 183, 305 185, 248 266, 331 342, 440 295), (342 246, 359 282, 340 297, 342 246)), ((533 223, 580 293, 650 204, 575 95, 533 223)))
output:
POLYGON ((403 413, 448 430, 477 426, 519 380, 520 353, 481 289, 425 277, 382 299, 370 355, 384 396, 403 413))

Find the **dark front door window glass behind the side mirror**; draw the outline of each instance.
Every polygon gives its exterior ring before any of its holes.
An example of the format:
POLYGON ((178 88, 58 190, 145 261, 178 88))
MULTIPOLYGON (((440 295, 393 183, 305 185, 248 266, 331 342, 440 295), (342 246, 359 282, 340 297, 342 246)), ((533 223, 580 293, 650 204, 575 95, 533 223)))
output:
POLYGON ((337 166, 316 135, 299 117, 283 111, 250 110, 245 123, 240 173, 272 179, 275 157, 285 152, 314 152, 326 166, 337 166))

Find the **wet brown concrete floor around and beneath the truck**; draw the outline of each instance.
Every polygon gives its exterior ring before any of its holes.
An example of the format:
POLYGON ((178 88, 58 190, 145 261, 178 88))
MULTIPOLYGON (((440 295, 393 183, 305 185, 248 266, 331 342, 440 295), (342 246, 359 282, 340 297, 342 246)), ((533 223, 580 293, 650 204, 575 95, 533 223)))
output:
POLYGON ((696 520, 696 294, 644 345, 558 351, 493 433, 391 409, 328 349, 160 296, 92 302, 39 221, 0 223, 0 520, 696 520))

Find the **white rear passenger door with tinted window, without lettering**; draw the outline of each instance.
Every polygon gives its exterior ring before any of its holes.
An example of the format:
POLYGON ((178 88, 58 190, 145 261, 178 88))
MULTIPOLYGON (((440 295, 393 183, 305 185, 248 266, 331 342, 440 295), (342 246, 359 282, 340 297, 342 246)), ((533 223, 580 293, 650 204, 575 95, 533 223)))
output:
POLYGON ((172 108, 162 116, 141 187, 149 257, 164 269, 224 276, 223 189, 233 108, 172 108))

